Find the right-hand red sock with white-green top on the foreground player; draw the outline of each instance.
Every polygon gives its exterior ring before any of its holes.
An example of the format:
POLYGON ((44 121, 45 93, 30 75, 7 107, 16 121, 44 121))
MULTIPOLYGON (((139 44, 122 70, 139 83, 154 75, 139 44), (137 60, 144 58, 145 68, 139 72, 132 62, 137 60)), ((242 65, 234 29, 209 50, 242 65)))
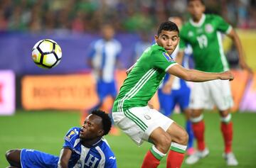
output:
POLYGON ((186 145, 181 145, 176 142, 171 142, 171 150, 167 157, 167 168, 179 168, 184 159, 186 145))

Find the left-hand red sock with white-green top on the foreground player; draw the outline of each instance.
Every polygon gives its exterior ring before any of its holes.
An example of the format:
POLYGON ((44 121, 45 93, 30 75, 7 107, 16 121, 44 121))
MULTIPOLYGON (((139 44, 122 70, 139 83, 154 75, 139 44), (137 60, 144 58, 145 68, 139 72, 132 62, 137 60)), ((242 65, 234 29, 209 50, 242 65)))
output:
POLYGON ((155 146, 152 146, 144 157, 142 168, 156 168, 160 164, 160 160, 166 154, 160 152, 155 146))

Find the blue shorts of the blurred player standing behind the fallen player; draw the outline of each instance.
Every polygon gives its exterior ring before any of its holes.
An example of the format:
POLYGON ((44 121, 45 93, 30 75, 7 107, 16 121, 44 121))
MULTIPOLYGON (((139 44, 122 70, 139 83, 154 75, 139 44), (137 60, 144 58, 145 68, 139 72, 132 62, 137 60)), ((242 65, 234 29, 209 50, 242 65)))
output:
POLYGON ((104 82, 102 80, 98 80, 97 94, 99 96, 100 101, 103 101, 109 95, 115 98, 117 96, 117 87, 115 82, 104 82))

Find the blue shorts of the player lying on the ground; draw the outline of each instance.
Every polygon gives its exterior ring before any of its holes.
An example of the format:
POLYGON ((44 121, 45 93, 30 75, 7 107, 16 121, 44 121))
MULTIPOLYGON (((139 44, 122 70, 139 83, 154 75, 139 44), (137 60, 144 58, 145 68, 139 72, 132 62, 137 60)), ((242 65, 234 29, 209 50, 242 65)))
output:
POLYGON ((57 168, 59 157, 38 150, 21 150, 22 168, 57 168))

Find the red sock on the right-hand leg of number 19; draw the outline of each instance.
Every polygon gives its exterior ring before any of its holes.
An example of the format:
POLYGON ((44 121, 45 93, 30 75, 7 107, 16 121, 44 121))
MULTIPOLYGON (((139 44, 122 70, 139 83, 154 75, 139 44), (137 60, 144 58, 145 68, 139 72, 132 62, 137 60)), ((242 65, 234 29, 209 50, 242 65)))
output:
POLYGON ((223 133, 225 153, 232 152, 233 123, 231 121, 231 114, 228 114, 228 116, 221 118, 220 129, 223 133))

